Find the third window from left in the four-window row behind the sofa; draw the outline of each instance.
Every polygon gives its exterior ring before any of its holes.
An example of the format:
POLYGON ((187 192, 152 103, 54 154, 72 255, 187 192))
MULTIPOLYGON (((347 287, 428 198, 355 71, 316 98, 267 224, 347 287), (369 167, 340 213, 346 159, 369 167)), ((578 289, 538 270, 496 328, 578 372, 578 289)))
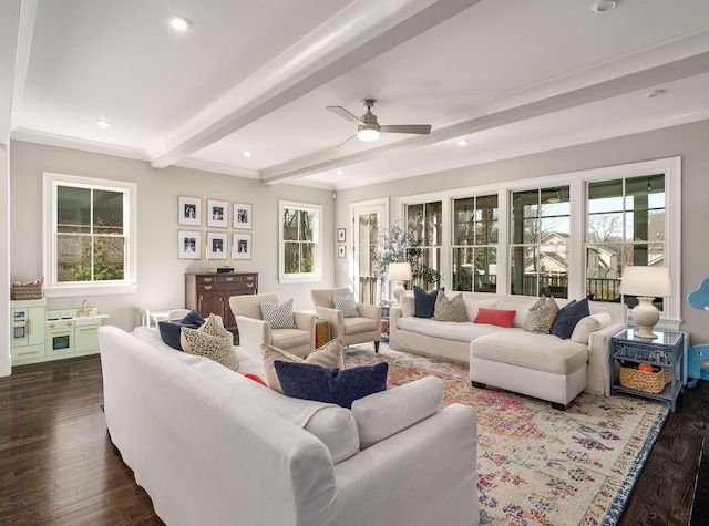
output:
POLYGON ((512 194, 511 292, 568 298, 568 186, 512 194))

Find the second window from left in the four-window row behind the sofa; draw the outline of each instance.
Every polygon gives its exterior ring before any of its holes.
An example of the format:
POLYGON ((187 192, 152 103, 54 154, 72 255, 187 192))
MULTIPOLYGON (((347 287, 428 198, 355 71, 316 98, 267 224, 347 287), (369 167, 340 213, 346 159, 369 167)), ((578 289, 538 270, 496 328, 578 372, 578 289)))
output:
POLYGON ((453 200, 453 290, 497 290, 497 195, 453 200))

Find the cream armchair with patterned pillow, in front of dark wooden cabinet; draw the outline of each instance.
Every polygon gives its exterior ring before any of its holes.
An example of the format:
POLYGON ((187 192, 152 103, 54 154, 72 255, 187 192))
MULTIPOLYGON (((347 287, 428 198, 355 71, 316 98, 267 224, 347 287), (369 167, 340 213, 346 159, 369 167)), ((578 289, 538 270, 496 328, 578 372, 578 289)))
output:
POLYGON ((315 314, 294 311, 295 329, 273 329, 261 319, 260 301, 280 303, 278 295, 232 296, 229 307, 239 331, 239 347, 261 358, 261 343, 305 358, 315 349, 315 314))

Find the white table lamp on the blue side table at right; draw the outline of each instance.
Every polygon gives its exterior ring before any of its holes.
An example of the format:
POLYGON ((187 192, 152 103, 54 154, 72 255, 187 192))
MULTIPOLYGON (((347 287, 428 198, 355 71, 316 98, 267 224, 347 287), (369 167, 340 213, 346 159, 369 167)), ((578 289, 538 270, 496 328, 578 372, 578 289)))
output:
POLYGON ((660 311, 653 305, 655 298, 672 296, 669 269, 666 267, 633 267, 623 269, 620 293, 637 296, 638 305, 633 309, 633 321, 638 326, 637 338, 654 340, 653 327, 660 319, 660 311))

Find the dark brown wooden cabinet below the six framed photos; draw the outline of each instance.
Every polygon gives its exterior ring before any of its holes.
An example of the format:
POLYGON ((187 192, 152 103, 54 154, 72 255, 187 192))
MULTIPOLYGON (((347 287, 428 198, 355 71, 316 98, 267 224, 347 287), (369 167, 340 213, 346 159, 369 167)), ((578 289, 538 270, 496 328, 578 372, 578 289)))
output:
POLYGON ((236 329, 229 298, 257 292, 258 272, 185 274, 187 309, 196 310, 203 318, 214 312, 222 317, 227 329, 236 329))

